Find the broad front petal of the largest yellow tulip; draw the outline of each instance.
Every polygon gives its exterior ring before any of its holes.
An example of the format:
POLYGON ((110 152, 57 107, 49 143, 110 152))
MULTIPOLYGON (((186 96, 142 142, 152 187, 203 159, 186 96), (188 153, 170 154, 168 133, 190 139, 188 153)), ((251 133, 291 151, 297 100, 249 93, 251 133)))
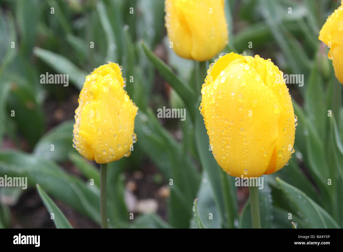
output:
POLYGON ((231 62, 205 87, 202 112, 218 164, 231 176, 260 177, 278 137, 279 101, 244 59, 231 62))

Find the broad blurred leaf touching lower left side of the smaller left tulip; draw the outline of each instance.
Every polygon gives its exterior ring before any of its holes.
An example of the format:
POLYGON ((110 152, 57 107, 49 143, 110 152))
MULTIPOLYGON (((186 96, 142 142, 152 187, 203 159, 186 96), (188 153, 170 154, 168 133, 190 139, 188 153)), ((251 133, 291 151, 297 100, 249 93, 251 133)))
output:
POLYGON ((35 145, 33 153, 45 159, 66 161, 70 152, 77 153, 72 144, 75 120, 62 122, 48 131, 35 145), (52 151, 52 146, 53 151, 52 151))

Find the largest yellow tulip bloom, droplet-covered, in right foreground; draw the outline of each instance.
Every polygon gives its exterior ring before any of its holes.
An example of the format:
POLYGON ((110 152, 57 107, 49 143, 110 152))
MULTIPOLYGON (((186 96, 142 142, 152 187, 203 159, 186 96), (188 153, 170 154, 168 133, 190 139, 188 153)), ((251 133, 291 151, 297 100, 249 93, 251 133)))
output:
POLYGON ((213 155, 226 173, 260 177, 288 165, 296 117, 283 73, 270 59, 221 55, 201 93, 213 155))

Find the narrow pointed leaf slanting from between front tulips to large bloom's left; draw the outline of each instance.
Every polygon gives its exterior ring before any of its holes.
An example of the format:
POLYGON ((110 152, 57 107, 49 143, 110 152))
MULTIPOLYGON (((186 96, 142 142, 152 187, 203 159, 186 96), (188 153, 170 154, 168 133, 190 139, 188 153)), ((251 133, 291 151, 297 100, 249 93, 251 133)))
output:
POLYGON ((196 95, 193 90, 182 82, 178 76, 176 76, 173 71, 166 65, 161 59, 157 58, 156 55, 141 41, 141 45, 146 56, 151 60, 154 66, 157 68, 158 72, 164 77, 164 79, 172 86, 176 93, 181 97, 181 99, 186 104, 191 116, 194 116, 194 102, 196 100, 196 95))

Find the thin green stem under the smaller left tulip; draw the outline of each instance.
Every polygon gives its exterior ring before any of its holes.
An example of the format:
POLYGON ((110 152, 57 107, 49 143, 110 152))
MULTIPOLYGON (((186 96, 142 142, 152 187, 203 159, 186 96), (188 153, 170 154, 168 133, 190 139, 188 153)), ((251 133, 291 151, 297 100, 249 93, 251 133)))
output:
POLYGON ((108 228, 107 221, 107 164, 100 164, 100 215, 101 227, 108 228))

